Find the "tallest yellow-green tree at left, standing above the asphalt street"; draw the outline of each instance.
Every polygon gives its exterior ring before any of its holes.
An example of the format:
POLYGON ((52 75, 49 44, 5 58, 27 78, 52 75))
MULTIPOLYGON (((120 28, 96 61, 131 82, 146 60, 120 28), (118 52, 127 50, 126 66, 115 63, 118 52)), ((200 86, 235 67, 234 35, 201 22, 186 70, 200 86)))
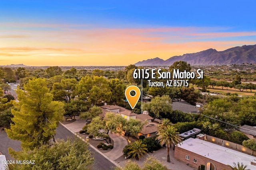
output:
POLYGON ((34 149, 54 138, 64 109, 62 103, 52 101, 44 79, 29 80, 24 90, 17 90, 19 102, 12 109, 13 123, 6 132, 10 139, 21 141, 22 148, 34 149))

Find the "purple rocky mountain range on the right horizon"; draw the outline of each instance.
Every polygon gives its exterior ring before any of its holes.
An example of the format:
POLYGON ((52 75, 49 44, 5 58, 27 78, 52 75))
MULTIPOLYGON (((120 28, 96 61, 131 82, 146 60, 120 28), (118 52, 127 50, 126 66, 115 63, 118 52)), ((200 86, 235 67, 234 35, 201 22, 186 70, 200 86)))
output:
POLYGON ((208 49, 198 53, 173 56, 164 61, 158 57, 135 63, 136 66, 170 66, 175 61, 186 61, 190 65, 225 65, 256 63, 256 45, 243 45, 225 51, 208 49))

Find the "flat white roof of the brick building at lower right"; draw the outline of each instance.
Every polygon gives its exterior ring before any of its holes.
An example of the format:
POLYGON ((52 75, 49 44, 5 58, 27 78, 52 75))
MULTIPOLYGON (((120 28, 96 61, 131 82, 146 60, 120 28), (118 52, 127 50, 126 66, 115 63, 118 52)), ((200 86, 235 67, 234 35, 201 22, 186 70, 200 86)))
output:
POLYGON ((256 160, 256 157, 238 152, 236 150, 228 149, 214 143, 203 141, 201 139, 187 139, 178 147, 194 152, 198 155, 215 160, 225 165, 233 166, 233 162, 240 162, 247 166, 248 169, 256 169, 256 166, 251 165, 251 161, 256 160))

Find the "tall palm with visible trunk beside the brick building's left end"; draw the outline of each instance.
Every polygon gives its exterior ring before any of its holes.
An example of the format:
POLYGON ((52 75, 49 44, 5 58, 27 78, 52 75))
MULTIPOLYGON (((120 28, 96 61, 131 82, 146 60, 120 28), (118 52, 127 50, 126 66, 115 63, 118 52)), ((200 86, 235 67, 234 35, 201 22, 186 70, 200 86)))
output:
POLYGON ((173 149, 174 145, 182 142, 182 139, 178 135, 177 129, 171 125, 167 125, 165 129, 159 129, 158 137, 156 140, 160 142, 160 145, 165 145, 167 148, 167 162, 170 162, 170 149, 173 149))

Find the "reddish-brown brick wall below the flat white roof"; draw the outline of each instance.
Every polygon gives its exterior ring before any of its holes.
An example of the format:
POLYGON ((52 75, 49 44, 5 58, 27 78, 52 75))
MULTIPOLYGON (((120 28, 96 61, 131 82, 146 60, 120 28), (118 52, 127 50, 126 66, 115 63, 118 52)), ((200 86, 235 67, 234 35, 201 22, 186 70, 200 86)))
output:
MULTIPOLYGON (((208 154, 208 152, 206 151, 205 154, 208 154)), ((200 166, 200 165, 205 165, 206 166, 207 162, 211 162, 212 164, 215 165, 216 170, 223 170, 223 169, 231 170, 231 168, 228 167, 227 165, 221 164, 219 162, 216 162, 216 161, 211 160, 209 158, 206 158, 204 156, 195 154, 193 152, 190 152, 188 150, 182 149, 180 147, 175 147, 174 158, 176 158, 176 159, 178 159, 178 160, 180 160, 182 162, 185 162, 189 166, 192 166, 193 168, 196 168, 196 169, 198 169, 198 166, 200 166), (186 155, 189 156, 189 160, 186 160, 186 155), (197 159, 197 163, 193 162, 193 158, 197 159)))

